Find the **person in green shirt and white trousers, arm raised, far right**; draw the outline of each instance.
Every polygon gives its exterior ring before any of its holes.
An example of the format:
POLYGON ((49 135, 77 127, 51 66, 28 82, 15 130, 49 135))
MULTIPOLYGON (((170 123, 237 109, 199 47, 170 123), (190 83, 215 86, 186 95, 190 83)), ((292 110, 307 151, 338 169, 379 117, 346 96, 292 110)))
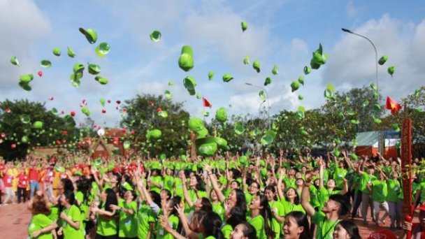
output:
POLYGON ((378 168, 379 174, 378 179, 373 180, 372 182, 368 183, 367 187, 368 190, 372 193, 372 200, 373 200, 373 208, 375 209, 375 219, 376 224, 379 225, 380 223, 384 223, 385 218, 388 217, 389 209, 388 209, 388 203, 386 201, 387 199, 387 176, 385 176, 384 172, 380 168, 378 168), (384 208, 385 214, 380 218, 380 207, 384 208))

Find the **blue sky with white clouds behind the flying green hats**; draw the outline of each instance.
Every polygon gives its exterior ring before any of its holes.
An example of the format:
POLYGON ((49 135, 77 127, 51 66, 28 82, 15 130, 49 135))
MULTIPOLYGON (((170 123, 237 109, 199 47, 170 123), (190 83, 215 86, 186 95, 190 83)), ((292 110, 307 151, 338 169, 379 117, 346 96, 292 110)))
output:
MULTIPOLYGON (((196 92, 212 103, 210 117, 225 107, 229 114, 259 114, 259 89, 270 76, 268 92, 271 115, 298 106, 317 108, 324 103, 323 91, 332 84, 338 91, 375 82, 375 55, 366 40, 346 34, 342 27, 370 38, 378 57, 389 61, 379 67, 380 92, 395 100, 423 85, 425 68, 424 1, 33 1, 0 0, 0 100, 29 99, 45 102, 46 108, 70 113, 82 122, 83 99, 91 117, 101 126, 115 126, 122 117, 115 101, 136 94, 173 94, 173 101, 185 102, 192 116, 201 117, 202 101, 189 96, 182 85, 187 75, 196 79, 196 92), (408 2, 408 3, 407 3, 408 2), (244 33, 240 22, 249 28, 244 33), (78 31, 92 28, 98 33, 90 45, 78 31), (150 41, 153 30, 161 31, 161 41, 150 41), (101 42, 110 53, 97 57, 94 48, 101 42), (330 57, 326 65, 305 76, 305 86, 292 93, 290 84, 303 75, 312 51, 319 43, 330 57), (194 49, 195 67, 182 71, 177 64, 183 45, 194 49), (66 55, 71 46, 77 56, 66 55), (62 48, 62 56, 52 49, 62 48), (10 64, 15 55, 21 66, 10 64), (243 64, 245 56, 261 62, 261 72, 243 64), (52 68, 39 66, 42 59, 52 68), (92 62, 102 68, 108 85, 99 85, 85 73, 80 87, 69 81, 73 64, 92 62), (273 65, 279 75, 272 75, 273 65), (391 78, 387 67, 396 66, 391 78), (20 75, 43 71, 31 82, 33 90, 23 92, 20 75), (215 71, 208 80, 208 71, 215 71), (223 82, 231 73, 233 80, 223 82), (175 85, 168 86, 173 80, 175 85), (298 94, 304 99, 298 100, 298 94), (50 101, 50 96, 53 100, 50 101), (110 99, 106 113, 100 98, 110 99)), ((382 102, 383 103, 383 102, 382 102)), ((265 106, 265 104, 263 105, 265 106)))

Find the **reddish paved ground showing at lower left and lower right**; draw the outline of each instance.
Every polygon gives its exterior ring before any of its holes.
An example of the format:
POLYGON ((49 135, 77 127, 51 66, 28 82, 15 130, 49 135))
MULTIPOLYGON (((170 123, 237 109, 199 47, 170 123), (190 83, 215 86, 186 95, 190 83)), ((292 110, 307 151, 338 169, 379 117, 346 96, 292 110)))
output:
MULTIPOLYGON (((0 232, 1 239, 24 239, 27 238, 27 226, 31 213, 27 210, 26 204, 15 204, 0 206, 0 232)), ((368 218, 371 221, 371 218, 368 218)), ((354 222, 359 226, 361 238, 368 238, 369 234, 373 231, 380 229, 389 230, 389 218, 386 220, 386 224, 382 226, 375 226, 372 222, 368 225, 363 224, 363 219, 356 218, 354 222)), ((417 212, 415 213, 415 219, 413 222, 417 222, 417 212)), ((400 235, 401 230, 394 231, 397 236, 400 235)))

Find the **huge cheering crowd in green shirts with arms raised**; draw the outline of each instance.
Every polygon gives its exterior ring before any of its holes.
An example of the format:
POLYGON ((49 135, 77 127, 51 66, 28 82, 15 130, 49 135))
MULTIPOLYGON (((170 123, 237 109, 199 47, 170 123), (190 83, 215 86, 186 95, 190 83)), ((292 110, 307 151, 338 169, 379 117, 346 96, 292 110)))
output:
POLYGON ((360 216, 425 238, 423 175, 412 182, 419 224, 404 222, 400 161, 380 154, 28 157, 0 161, 0 176, 2 206, 29 200, 29 238, 357 239, 360 216))

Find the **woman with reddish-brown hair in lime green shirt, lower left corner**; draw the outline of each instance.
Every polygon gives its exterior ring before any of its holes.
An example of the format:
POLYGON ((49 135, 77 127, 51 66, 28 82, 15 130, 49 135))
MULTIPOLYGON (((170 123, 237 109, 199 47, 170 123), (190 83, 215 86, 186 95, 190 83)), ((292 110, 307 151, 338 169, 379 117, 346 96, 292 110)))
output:
POLYGON ((50 210, 46 207, 43 196, 34 195, 31 200, 32 217, 28 224, 29 238, 52 239, 52 231, 55 231, 57 224, 48 217, 50 210))

